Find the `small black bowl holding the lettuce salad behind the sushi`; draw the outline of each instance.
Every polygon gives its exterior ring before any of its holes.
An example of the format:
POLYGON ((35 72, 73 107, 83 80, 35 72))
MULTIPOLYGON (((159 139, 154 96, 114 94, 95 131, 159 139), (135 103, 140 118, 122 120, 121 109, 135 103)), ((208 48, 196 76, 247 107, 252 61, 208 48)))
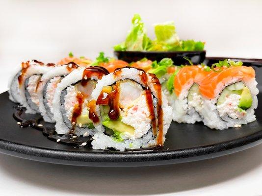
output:
POLYGON ((205 60, 206 50, 203 51, 114 51, 118 59, 128 63, 139 61, 142 58, 147 58, 152 61, 160 61, 162 58, 171 58, 175 65, 185 65, 188 61, 183 57, 188 57, 194 64, 199 64, 205 60))

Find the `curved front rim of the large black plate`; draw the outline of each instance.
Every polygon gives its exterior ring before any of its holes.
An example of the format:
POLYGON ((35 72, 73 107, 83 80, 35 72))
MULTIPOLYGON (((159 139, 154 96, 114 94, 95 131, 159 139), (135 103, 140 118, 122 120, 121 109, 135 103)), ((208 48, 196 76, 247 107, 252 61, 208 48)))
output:
POLYGON ((76 152, 29 146, 0 139, 0 152, 20 158, 55 164, 91 167, 139 167, 204 160, 242 151, 261 143, 262 130, 235 140, 213 145, 160 151, 76 152))

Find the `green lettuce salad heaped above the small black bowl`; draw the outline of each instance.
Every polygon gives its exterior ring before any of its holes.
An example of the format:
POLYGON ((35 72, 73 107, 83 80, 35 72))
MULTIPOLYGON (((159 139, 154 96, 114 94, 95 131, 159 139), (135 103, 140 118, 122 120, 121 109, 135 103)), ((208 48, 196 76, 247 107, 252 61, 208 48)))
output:
POLYGON ((139 14, 132 18, 131 30, 126 40, 114 46, 115 51, 202 51, 205 43, 194 40, 180 40, 174 22, 156 24, 154 40, 146 34, 139 14))

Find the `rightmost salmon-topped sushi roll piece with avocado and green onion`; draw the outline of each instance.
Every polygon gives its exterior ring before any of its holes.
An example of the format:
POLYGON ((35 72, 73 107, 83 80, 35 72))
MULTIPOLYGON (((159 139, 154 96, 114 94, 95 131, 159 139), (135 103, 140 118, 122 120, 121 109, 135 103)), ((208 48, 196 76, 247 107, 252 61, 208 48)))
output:
MULTIPOLYGON (((222 66, 200 83, 203 122, 210 128, 225 129, 256 120, 258 106, 257 82, 252 67, 241 62, 221 61, 222 66)), ((216 64, 216 65, 219 65, 216 64)))

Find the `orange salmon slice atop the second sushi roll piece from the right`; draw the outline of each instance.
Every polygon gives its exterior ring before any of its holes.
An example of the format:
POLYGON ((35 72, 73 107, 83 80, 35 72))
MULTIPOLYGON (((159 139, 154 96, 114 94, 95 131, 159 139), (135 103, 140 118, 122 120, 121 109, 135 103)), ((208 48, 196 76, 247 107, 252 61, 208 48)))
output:
POLYGON ((200 84, 208 74, 210 74, 209 71, 205 71, 203 67, 197 65, 185 66, 181 68, 174 79, 176 96, 179 97, 183 88, 190 83, 195 82, 200 84))

